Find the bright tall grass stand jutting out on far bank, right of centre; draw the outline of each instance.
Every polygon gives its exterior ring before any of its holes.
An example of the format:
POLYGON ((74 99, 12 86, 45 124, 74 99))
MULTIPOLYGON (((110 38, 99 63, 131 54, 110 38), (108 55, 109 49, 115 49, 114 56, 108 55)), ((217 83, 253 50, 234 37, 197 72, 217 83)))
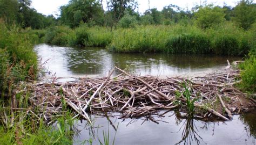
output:
POLYGON ((244 56, 252 48, 253 32, 232 23, 201 30, 193 25, 138 26, 114 31, 114 52, 167 52, 244 56))

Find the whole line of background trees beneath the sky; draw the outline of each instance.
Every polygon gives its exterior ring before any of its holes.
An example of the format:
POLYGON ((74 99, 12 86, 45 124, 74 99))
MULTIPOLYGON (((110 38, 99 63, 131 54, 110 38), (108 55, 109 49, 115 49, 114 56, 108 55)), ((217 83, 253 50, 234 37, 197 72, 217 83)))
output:
POLYGON ((159 11, 148 9, 138 12, 136 0, 107 0, 104 9, 102 0, 70 0, 60 6, 58 18, 44 16, 31 8, 31 0, 0 0, 0 17, 8 24, 19 24, 23 28, 42 29, 51 25, 67 25, 71 28, 81 24, 87 26, 134 27, 136 25, 171 25, 174 23, 195 23, 208 28, 223 21, 234 21, 247 30, 255 23, 256 4, 252 0, 241 0, 234 7, 196 5, 191 10, 177 5, 164 6, 159 11))

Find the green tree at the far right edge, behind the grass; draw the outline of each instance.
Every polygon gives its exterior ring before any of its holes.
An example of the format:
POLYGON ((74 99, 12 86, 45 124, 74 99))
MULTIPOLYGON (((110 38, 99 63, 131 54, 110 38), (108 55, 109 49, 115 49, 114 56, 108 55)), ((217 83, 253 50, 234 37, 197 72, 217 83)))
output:
POLYGON ((242 0, 234 8, 234 20, 245 30, 251 27, 256 19, 256 4, 253 1, 242 0))

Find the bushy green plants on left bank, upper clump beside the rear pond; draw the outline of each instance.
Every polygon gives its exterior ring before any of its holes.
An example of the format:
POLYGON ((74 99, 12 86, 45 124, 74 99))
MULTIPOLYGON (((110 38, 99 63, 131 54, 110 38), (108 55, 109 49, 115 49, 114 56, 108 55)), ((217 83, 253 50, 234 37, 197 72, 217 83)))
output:
POLYGON ((12 91, 12 84, 26 79, 35 79, 37 56, 33 52, 31 36, 21 33, 18 27, 10 30, 0 23, 0 89, 12 91))

